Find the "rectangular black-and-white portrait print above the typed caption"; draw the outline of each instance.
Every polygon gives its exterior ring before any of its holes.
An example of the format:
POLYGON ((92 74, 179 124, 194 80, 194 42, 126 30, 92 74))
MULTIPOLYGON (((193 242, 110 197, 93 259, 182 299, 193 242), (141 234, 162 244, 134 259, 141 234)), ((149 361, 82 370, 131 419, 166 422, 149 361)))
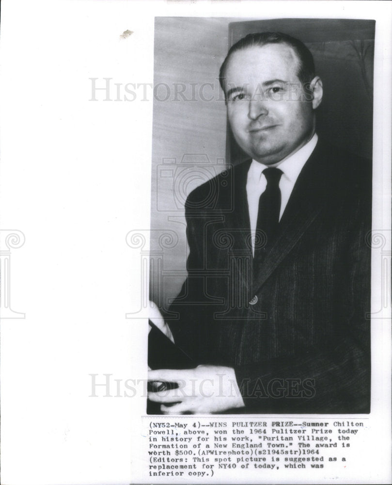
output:
POLYGON ((370 412, 374 32, 156 19, 153 411, 370 412))

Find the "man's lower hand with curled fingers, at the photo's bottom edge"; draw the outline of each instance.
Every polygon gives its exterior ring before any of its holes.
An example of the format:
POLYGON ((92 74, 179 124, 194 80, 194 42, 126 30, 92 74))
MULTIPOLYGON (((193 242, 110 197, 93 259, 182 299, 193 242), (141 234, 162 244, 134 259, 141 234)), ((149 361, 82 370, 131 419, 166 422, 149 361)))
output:
POLYGON ((148 372, 148 380, 178 385, 176 389, 148 393, 150 401, 161 403, 163 414, 219 413, 244 406, 234 369, 230 367, 200 365, 185 370, 158 369, 148 372))

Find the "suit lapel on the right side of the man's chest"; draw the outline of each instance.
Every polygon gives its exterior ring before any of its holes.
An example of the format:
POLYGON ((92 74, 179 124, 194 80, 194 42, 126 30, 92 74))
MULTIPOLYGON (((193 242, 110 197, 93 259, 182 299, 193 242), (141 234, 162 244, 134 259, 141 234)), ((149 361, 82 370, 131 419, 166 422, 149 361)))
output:
POLYGON ((279 223, 279 235, 253 278, 255 293, 295 247, 328 201, 330 172, 317 144, 305 163, 279 223))

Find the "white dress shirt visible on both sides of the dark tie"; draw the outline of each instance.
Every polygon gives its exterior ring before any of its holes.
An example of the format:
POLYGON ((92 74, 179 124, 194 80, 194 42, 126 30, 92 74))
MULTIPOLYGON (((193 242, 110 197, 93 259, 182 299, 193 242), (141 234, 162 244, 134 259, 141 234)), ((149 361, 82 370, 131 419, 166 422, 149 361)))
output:
POLYGON ((251 166, 248 171, 248 178, 246 183, 246 192, 248 197, 248 207, 249 207, 249 218, 251 221, 251 234, 252 234, 252 252, 254 254, 254 234, 257 225, 257 212, 259 210, 259 199, 260 195, 266 190, 267 179, 263 174, 263 170, 268 167, 279 167, 282 170, 282 177, 279 181, 279 188, 281 190, 281 212, 279 214, 279 220, 282 218, 284 209, 286 208, 287 202, 293 191, 294 184, 297 181, 298 175, 305 165, 306 161, 311 156, 316 144, 317 135, 314 133, 313 137, 309 142, 302 146, 298 151, 280 162, 274 163, 273 165, 264 165, 263 163, 252 160, 251 166))

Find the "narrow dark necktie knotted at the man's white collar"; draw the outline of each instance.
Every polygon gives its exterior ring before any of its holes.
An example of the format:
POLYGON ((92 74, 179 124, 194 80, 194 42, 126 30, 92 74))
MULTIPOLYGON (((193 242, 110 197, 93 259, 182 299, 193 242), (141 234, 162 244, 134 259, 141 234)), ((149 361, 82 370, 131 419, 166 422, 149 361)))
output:
POLYGON ((263 259, 263 256, 270 249, 278 232, 279 214, 281 211, 279 181, 282 173, 282 170, 273 167, 263 170, 263 174, 267 179, 267 187, 259 199, 254 244, 255 261, 263 259))

